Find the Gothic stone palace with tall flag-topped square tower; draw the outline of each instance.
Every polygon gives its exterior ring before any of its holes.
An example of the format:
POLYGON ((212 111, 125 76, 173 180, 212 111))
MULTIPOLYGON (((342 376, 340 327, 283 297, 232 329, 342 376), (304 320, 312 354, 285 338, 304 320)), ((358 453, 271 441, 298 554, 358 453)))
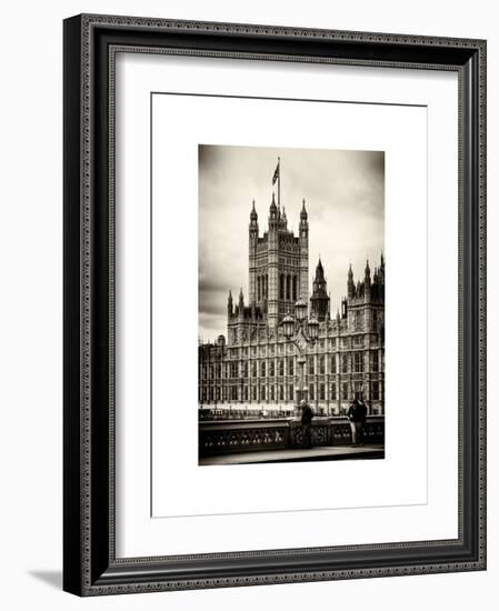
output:
POLYGON ((199 403, 216 413, 290 414, 296 402, 296 347, 280 322, 298 299, 310 302, 319 338, 309 348, 306 388, 316 413, 345 413, 362 394, 369 412, 385 413, 385 260, 362 281, 348 270, 341 312, 330 315, 330 296, 322 262, 309 294, 309 223, 303 200, 298 236, 288 229, 286 211, 272 196, 269 228, 259 234, 253 208, 249 223, 249 299, 242 290, 234 306, 229 291, 227 340, 199 345, 199 403))

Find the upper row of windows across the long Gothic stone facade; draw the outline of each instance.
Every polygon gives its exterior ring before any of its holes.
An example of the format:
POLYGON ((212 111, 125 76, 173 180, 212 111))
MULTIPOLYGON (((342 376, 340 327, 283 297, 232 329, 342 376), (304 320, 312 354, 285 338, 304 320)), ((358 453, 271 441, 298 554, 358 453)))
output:
MULTIPOLYGON (((368 352, 366 354, 370 354, 370 371, 373 373, 377 373, 379 371, 380 365, 380 359, 379 359, 379 352, 368 352)), ((369 358, 369 357, 368 357, 369 358)), ((350 367, 351 371, 353 373, 363 373, 365 370, 365 353, 363 352, 353 352, 352 354, 340 354, 340 371, 341 373, 349 373, 350 367)), ((239 367, 239 362, 230 362, 230 363, 223 363, 224 365, 224 372, 226 378, 248 378, 249 371, 250 371, 250 363, 247 361, 241 363, 241 367, 239 367)), ((201 379, 220 379, 221 372, 222 372, 222 364, 216 364, 216 365, 201 365, 201 379)), ((282 375, 295 375, 295 359, 279 359, 277 361, 277 368, 276 368, 276 361, 269 360, 269 361, 252 361, 251 362, 251 378, 257 378, 258 374, 260 374, 260 378, 270 377, 273 378, 277 374, 282 375), (287 364, 287 368, 285 367, 287 364), (258 367, 260 365, 260 367, 258 367), (285 371, 286 369, 286 371, 285 371)), ((313 355, 309 355, 307 359, 307 372, 310 375, 313 375, 317 373, 325 374, 325 373, 338 373, 338 359, 336 354, 330 354, 328 358, 328 364, 326 361, 326 354, 319 354, 316 363, 316 358, 313 355)))

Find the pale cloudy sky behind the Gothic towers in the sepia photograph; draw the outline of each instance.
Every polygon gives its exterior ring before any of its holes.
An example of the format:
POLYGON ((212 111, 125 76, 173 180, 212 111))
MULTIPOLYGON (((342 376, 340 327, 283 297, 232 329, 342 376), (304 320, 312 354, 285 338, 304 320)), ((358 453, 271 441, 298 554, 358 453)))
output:
POLYGON ((319 254, 331 313, 355 281, 371 272, 385 244, 385 154, 255 147, 199 147, 199 337, 227 333, 227 296, 248 297, 248 224, 255 199, 260 236, 268 229, 272 176, 281 158, 281 207, 297 234, 301 201, 309 216, 310 290, 319 254))

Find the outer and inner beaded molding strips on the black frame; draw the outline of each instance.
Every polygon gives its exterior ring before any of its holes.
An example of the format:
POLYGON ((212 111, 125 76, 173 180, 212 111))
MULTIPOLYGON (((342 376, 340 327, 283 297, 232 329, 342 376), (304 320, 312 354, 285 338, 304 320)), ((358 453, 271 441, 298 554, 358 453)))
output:
MULTIPOLYGON (((272 56, 272 54, 251 54, 251 53, 231 53, 231 52, 209 52, 209 51, 196 51, 196 50, 168 50, 157 48, 133 48, 133 47, 113 47, 110 52, 109 69, 110 69, 110 107, 109 118, 110 120, 110 144, 113 144, 114 140, 114 54, 116 51, 127 52, 146 52, 146 53, 174 53, 187 56, 202 56, 202 57, 224 57, 232 59, 258 59, 258 60, 278 60, 278 61, 301 61, 301 62, 321 62, 321 63, 341 63, 351 66, 379 66, 379 67, 397 67, 397 68, 416 68, 416 69, 432 69, 432 70, 455 70, 459 72, 459 88, 462 87, 461 70, 449 66, 439 64, 422 64, 422 63, 406 63, 406 62, 386 62, 386 61, 365 61, 365 60, 349 60, 349 59, 332 59, 332 58, 312 58, 312 57, 298 57, 298 56, 272 56)), ((391 575, 409 575, 409 574, 425 574, 425 573, 438 573, 438 572, 455 572, 461 570, 479 570, 486 568, 486 42, 476 39, 450 39, 441 37, 421 37, 421 36, 407 36, 407 34, 386 34, 386 33, 372 33, 372 32, 356 32, 356 31, 341 31, 341 30, 320 30, 309 28, 288 28, 288 27, 275 27, 275 26, 259 26, 259 24, 238 24, 238 23, 218 23, 218 22, 196 22, 196 21, 178 21, 167 19, 147 19, 136 17, 117 17, 117 16, 98 16, 87 14, 82 16, 81 20, 81 101, 80 101, 80 477, 82 482, 82 489, 80 492, 80 508, 82 515, 81 527, 81 578, 82 578, 82 593, 84 595, 101 595, 101 594, 121 594, 121 593, 137 593, 137 592, 153 592, 163 590, 188 590, 188 589, 204 589, 204 588, 231 588, 240 585, 258 585, 258 584, 271 584, 271 583, 293 583, 305 581, 325 581, 325 580, 340 580, 340 579, 361 579, 369 577, 391 577, 391 575), (252 575, 241 578, 212 578, 212 579, 192 579, 192 580, 176 580, 176 581, 151 581, 141 584, 123 584, 123 585, 92 585, 91 572, 90 572, 90 38, 93 28, 99 27, 122 27, 122 28, 156 28, 158 30, 180 32, 186 31, 204 31, 217 33, 230 33, 230 34, 259 34, 259 36, 277 36, 301 38, 301 39, 327 39, 351 42, 377 42, 377 43, 398 43, 408 46, 422 46, 422 47, 446 47, 446 48, 468 48, 477 49, 479 52, 479 79, 480 79, 480 99, 479 99, 479 558, 475 562, 456 562, 456 563, 430 563, 418 564, 409 567, 391 567, 391 568, 376 568, 376 569, 352 569, 352 570, 332 570, 332 571, 312 571, 312 572, 296 572, 296 573, 282 573, 273 575, 252 575)), ((461 96, 460 96, 461 98, 461 96)), ((461 117, 461 108, 459 109, 461 117)), ((461 134, 459 138, 459 147, 461 149, 461 134)), ((111 146, 110 150, 113 150, 111 146)), ((461 163, 461 150, 460 152, 460 167, 459 167, 459 217, 462 217, 462 163, 461 163)), ((111 421, 110 421, 110 478, 111 478, 111 491, 113 492, 113 475, 114 475, 114 457, 113 457, 113 407, 114 407, 114 385, 113 385, 113 344, 114 344, 114 286, 113 286, 113 270, 114 270, 114 167, 113 156, 112 162, 109 164, 110 170, 110 183, 109 183, 109 201, 110 201, 110 382, 109 382, 109 400, 111 404, 111 421)), ((462 261, 462 243, 461 231, 459 231, 459 261, 462 261)), ((462 282, 461 274, 459 276, 459 297, 461 298, 462 282)), ((461 302, 461 299, 459 299, 461 302)), ((462 328, 462 312, 459 313, 459 360, 461 363, 461 328, 462 328)), ((460 368, 461 371, 461 368, 460 368)), ((460 374, 461 378, 461 374, 460 374)), ((460 387, 462 383, 460 382, 460 387)), ((459 434, 462 434, 462 393, 459 389, 459 434)), ((229 552, 226 554, 196 554, 183 557, 152 557, 152 558, 134 558, 134 559, 114 559, 110 558, 110 562, 114 564, 148 561, 158 562, 168 560, 169 558, 237 558, 240 555, 272 555, 286 551, 287 553, 300 553, 306 551, 317 551, 318 549, 401 549, 410 548, 417 544, 430 544, 430 545, 443 545, 449 543, 458 544, 462 537, 462 455, 461 449, 459 452, 459 539, 452 542, 449 541, 429 541, 429 542, 405 542, 393 544, 369 544, 369 545, 346 545, 335 548, 300 548, 296 550, 265 550, 258 552, 229 552)), ((110 507, 113 509, 113 494, 111 493, 110 507)), ((110 532, 111 532, 111 557, 114 555, 114 532, 113 532, 113 511, 110 517, 110 532)))

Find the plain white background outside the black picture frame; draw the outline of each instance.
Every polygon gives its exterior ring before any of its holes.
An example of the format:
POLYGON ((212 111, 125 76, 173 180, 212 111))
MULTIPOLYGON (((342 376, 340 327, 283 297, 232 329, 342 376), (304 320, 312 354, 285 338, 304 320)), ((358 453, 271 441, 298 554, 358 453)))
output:
MULTIPOLYGON (((276 585, 81 601, 60 592, 61 569, 61 67, 64 17, 81 11, 149 14, 377 30, 489 39, 489 168, 499 163, 499 34, 492 2, 420 1, 403 4, 358 0, 346 3, 268 2, 236 4, 120 1, 58 4, 34 2, 3 9, 2 46, 2 222, 0 256, 2 465, 1 575, 7 609, 302 609, 346 605, 348 609, 396 610, 433 608, 445 600, 455 610, 491 608, 499 577, 497 444, 489 449, 489 570, 388 578, 355 582, 276 585)), ((498 179, 490 171, 489 201, 498 199, 498 179)), ((489 260, 497 261, 493 239, 497 207, 489 207, 489 260)), ((498 310, 495 266, 489 269, 489 311, 498 310)), ((489 322, 489 378, 498 368, 498 323, 489 322), (496 345, 495 345, 496 344, 496 345)), ((492 385, 492 384, 491 384, 492 385)), ((492 392, 492 397, 495 393, 492 392)), ((499 418, 492 400, 489 429, 499 418)))

